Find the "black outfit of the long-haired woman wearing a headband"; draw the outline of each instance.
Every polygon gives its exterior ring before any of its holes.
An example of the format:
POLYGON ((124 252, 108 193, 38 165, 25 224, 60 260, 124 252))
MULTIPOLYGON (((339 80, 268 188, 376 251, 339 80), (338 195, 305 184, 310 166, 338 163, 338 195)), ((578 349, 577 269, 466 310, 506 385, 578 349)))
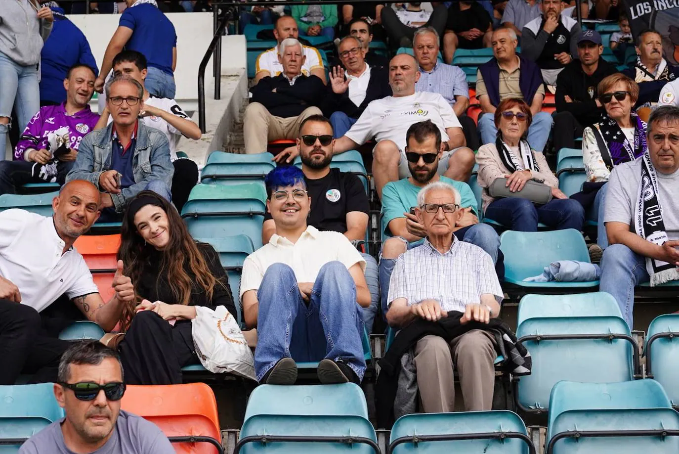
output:
MULTIPOLYGON (((237 316, 234 298, 229 289, 219 256, 212 246, 198 243, 198 250, 204 256, 210 273, 221 279, 225 285, 215 286, 212 299, 194 283, 189 306, 204 306, 215 309, 225 306, 234 317, 237 316)), ((188 265, 185 264, 188 268, 188 265)), ((193 273, 186 268, 189 276, 193 273)), ((160 254, 151 256, 147 270, 160 270, 160 254)), ((151 302, 162 301, 176 304, 166 277, 145 273, 137 285, 139 296, 151 302)), ((199 364, 194 339, 191 336, 191 321, 177 321, 171 326, 160 315, 152 311, 136 314, 132 324, 119 346, 123 363, 125 383, 128 385, 175 385, 181 383, 181 368, 188 364, 199 364)))

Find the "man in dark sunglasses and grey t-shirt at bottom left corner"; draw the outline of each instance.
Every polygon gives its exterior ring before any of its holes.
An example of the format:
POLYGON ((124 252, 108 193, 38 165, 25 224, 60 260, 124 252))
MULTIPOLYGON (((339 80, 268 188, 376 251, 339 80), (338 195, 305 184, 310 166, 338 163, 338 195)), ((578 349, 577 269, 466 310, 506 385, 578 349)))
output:
POLYGON ((54 397, 66 417, 29 438, 20 454, 172 454, 157 425, 120 409, 123 368, 98 340, 74 343, 61 358, 54 397))

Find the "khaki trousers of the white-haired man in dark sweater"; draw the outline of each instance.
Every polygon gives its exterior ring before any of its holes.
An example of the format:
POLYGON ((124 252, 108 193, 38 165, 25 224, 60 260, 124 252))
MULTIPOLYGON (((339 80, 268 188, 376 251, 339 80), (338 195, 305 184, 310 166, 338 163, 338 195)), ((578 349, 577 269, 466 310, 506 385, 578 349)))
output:
POLYGON ((245 152, 263 153, 269 142, 281 139, 297 139, 299 125, 312 115, 323 115, 318 107, 307 107, 296 117, 276 117, 260 103, 250 103, 243 116, 243 139, 245 152))

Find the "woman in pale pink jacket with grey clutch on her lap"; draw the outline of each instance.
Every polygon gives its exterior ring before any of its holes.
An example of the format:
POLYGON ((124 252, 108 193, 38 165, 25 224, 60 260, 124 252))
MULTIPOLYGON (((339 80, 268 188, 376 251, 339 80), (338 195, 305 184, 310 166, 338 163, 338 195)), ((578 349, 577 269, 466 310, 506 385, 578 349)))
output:
POLYGON ((550 228, 581 230, 585 210, 559 190, 559 180, 549 169, 545 156, 530 147, 526 137, 532 121, 530 107, 521 99, 505 99, 495 111, 498 136, 495 143, 479 148, 479 186, 483 188, 483 211, 488 217, 511 230, 535 232, 538 222, 550 228), (507 178, 507 188, 517 192, 532 180, 551 187, 553 198, 536 206, 527 198, 493 198, 488 188, 497 178, 507 178))

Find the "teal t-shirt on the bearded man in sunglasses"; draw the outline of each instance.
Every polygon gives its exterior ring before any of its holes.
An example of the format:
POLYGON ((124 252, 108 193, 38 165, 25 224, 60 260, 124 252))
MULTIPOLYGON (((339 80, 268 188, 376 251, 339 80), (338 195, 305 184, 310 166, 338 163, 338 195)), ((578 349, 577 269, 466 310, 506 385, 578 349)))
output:
MULTIPOLYGON (((441 181, 452 184, 452 186, 460 193, 460 205, 462 208, 471 207, 475 215, 477 213, 477 201, 474 192, 469 187, 469 184, 456 181, 448 177, 441 176, 441 181)), ((418 203, 418 192, 422 188, 415 186, 407 178, 399 181, 390 181, 382 189, 382 230, 387 237, 392 237, 388 225, 391 220, 398 217, 405 217, 403 213, 410 211, 418 203)))

